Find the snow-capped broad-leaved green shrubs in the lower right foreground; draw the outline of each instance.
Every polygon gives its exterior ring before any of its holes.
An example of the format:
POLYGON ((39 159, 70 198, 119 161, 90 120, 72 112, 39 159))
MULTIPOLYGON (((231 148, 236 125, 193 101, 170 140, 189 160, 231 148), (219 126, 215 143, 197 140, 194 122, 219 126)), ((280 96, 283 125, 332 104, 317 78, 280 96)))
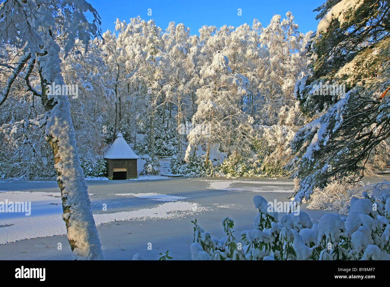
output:
POLYGON ((193 260, 390 260, 390 197, 378 200, 363 192, 351 198, 349 215, 325 214, 313 224, 305 212, 278 213, 255 196, 259 214, 254 229, 234 236, 234 223, 222 222, 226 237, 214 239, 194 223, 193 260))

